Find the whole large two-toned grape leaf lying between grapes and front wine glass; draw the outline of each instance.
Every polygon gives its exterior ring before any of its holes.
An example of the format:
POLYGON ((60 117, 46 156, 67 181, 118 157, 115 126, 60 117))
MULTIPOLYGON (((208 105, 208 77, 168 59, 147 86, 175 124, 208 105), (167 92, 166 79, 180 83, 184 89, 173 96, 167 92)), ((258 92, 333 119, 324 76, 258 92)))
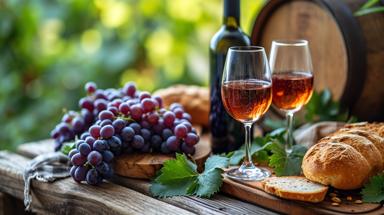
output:
POLYGON ((152 196, 198 195, 209 198, 222 185, 222 167, 228 167, 229 158, 214 155, 205 162, 205 170, 199 174, 197 166, 187 160, 185 154, 163 162, 164 167, 151 179, 152 196))

